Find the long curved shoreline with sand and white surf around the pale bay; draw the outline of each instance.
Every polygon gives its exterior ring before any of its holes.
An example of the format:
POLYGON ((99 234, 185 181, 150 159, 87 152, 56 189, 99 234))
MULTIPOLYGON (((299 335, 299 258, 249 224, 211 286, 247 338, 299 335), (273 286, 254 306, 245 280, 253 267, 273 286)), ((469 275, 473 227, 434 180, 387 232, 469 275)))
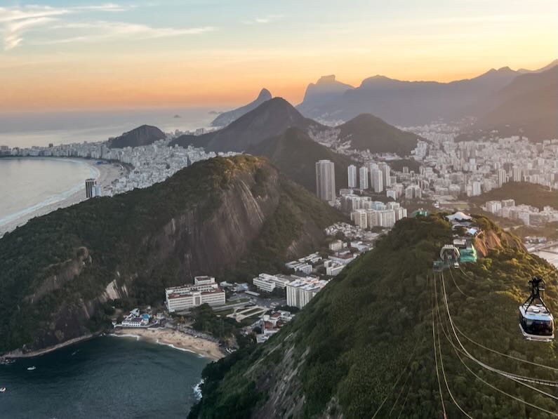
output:
MULTIPOLYGON (((22 157, 25 159, 33 159, 34 157, 22 157)), ((72 160, 77 161, 81 164, 86 164, 91 170, 96 171, 95 179, 101 185, 110 185, 114 180, 120 177, 120 169, 117 164, 114 163, 105 163, 97 165, 95 159, 81 159, 79 157, 39 157, 41 159, 64 159, 64 160, 72 160)), ((22 213, 13 220, 9 220, 3 225, 0 225, 0 238, 4 236, 7 232, 11 232, 15 230, 16 227, 20 227, 25 225, 25 223, 32 218, 40 217, 41 215, 46 215, 53 211, 56 211, 59 208, 66 208, 68 206, 72 206, 74 204, 78 204, 81 201, 85 201, 85 184, 84 182, 81 183, 81 187, 77 185, 76 187, 69 189, 69 191, 63 191, 60 195, 67 194, 66 197, 59 199, 58 201, 54 201, 48 204, 41 205, 42 203, 36 204, 38 208, 32 209, 32 211, 27 211, 22 213), (71 192, 71 193, 68 193, 71 192)), ((25 211, 25 210, 24 210, 25 211)))

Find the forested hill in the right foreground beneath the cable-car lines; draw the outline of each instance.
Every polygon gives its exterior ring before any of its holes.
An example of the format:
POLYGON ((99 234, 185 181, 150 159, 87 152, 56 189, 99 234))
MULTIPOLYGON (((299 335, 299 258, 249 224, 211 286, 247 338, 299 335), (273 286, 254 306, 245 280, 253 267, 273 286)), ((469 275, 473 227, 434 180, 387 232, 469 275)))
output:
POLYGON ((547 277, 556 313, 555 274, 490 220, 477 223, 486 258, 434 277, 449 223, 397 222, 265 344, 209 364, 190 417, 554 417, 556 387, 533 390, 479 363, 558 381, 556 342, 526 342, 517 324, 533 274, 547 277))

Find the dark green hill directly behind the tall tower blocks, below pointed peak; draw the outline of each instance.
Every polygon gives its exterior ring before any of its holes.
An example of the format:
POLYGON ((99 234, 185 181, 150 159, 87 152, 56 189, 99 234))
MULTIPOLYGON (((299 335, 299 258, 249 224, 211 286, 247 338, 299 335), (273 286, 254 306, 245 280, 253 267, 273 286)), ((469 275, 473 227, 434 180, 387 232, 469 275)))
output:
POLYGON ((352 160, 320 145, 300 128, 288 128, 281 135, 253 145, 248 153, 264 156, 288 178, 316 192, 316 162, 331 160, 336 168, 336 188, 347 187, 347 167, 352 160))

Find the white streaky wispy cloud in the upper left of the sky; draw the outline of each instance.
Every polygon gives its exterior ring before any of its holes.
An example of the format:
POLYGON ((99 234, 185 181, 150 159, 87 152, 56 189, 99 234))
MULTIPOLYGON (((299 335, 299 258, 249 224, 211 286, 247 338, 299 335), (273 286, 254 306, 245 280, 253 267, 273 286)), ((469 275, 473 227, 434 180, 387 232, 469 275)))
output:
POLYGON ((4 50, 21 46, 25 41, 33 45, 69 44, 72 42, 95 42, 105 39, 150 39, 169 36, 203 34, 216 27, 151 27, 131 22, 108 22, 91 19, 91 13, 124 12, 134 6, 105 3, 72 8, 51 6, 14 6, 0 8, 0 36, 4 38, 4 50), (79 15, 79 21, 69 19, 79 15))

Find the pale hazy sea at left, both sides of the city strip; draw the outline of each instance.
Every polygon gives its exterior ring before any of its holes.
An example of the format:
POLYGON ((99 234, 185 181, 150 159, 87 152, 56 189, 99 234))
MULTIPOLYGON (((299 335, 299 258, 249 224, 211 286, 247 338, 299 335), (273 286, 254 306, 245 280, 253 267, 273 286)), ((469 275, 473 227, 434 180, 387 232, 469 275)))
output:
MULTIPOLYGON (((0 145, 32 147, 105 141, 150 124, 165 132, 207 128, 211 109, 140 109, 111 112, 0 114, 0 145)), ((95 178, 94 169, 70 159, 0 159, 0 227, 69 197, 95 178)), ((1 228, 0 228, 1 230, 1 228)))

